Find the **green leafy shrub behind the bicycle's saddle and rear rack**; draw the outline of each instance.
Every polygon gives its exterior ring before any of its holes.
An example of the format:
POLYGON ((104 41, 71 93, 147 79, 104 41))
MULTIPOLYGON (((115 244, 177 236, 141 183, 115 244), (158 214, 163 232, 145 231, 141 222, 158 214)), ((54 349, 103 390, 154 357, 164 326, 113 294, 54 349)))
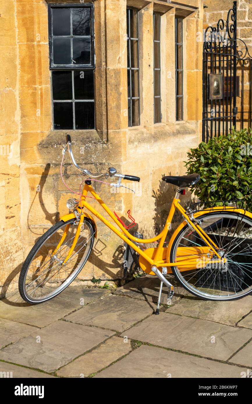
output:
POLYGON ((187 173, 201 176, 193 186, 201 202, 240 199, 243 201, 239 202, 240 206, 244 203, 252 210, 251 129, 236 131, 233 128, 229 135, 202 142, 187 154, 187 173))

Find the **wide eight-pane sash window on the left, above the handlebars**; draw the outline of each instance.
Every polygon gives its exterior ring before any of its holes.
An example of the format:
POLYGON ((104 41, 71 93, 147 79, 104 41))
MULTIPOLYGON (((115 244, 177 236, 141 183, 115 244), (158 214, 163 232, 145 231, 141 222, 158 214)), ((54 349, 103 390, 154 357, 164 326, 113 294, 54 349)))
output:
POLYGON ((93 5, 49 6, 53 128, 94 129, 93 5))

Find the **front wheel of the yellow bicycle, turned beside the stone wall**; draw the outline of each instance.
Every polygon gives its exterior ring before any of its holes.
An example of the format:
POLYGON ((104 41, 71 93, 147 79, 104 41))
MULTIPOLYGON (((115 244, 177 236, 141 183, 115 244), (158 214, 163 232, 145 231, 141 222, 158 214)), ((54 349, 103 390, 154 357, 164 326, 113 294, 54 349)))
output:
POLYGON ((28 303, 38 304, 59 295, 84 267, 93 247, 95 229, 85 218, 76 246, 64 260, 76 234, 76 219, 59 221, 47 230, 28 254, 19 275, 19 293, 28 303))

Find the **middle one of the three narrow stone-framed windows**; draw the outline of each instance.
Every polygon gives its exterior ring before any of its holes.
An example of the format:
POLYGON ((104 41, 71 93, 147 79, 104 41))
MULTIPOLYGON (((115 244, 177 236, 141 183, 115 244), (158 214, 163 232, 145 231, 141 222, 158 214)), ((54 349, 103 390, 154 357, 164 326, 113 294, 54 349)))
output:
POLYGON ((161 122, 161 15, 153 13, 153 76, 154 76, 154 123, 161 122))

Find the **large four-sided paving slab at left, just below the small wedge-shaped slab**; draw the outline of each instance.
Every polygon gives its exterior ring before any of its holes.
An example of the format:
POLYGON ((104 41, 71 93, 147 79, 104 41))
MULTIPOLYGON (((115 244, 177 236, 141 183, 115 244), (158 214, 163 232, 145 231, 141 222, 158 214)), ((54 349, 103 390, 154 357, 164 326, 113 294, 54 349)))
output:
POLYGON ((112 335, 101 328, 56 321, 1 349, 0 359, 53 372, 112 335))

